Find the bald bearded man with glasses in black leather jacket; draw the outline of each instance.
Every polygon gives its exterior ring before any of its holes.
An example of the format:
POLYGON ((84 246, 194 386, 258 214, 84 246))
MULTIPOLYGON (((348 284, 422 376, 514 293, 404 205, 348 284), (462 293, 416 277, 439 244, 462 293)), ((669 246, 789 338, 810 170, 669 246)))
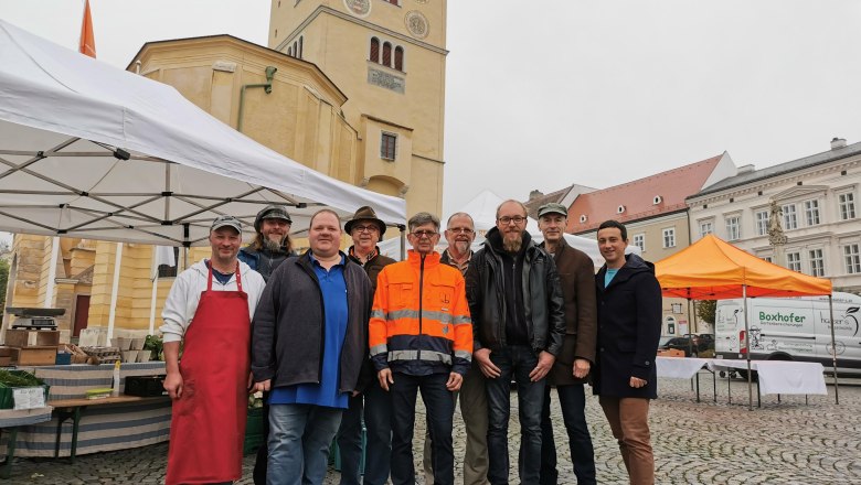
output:
POLYGON ((506 201, 466 276, 474 357, 488 378, 488 479, 508 484, 509 382, 518 385, 520 482, 539 483, 545 376, 562 349, 565 310, 553 257, 532 242, 527 208, 506 201))

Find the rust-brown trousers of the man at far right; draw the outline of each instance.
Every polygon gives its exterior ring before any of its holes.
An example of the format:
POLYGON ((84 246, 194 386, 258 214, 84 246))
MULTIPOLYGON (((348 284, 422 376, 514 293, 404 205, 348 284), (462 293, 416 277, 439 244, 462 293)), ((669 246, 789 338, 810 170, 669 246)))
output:
POLYGON ((621 460, 631 485, 655 484, 655 456, 649 434, 649 400, 600 396, 604 416, 619 442, 621 460))

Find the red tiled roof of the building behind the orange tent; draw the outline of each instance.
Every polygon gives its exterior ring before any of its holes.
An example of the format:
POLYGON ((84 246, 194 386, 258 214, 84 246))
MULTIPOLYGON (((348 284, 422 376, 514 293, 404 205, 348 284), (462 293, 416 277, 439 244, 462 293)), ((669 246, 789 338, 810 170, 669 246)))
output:
POLYGON ((580 234, 594 230, 607 219, 627 223, 681 211, 687 207, 684 198, 702 190, 722 157, 581 194, 568 207, 567 231, 580 234), (659 204, 653 203, 656 196, 661 197, 659 204), (625 206, 625 212, 618 214, 620 205, 625 206), (580 222, 582 215, 586 216, 585 223, 580 222))

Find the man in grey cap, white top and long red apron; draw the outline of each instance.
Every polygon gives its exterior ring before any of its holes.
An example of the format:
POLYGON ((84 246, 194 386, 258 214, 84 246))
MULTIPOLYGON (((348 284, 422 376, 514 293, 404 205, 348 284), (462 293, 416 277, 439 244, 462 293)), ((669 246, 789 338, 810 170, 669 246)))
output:
POLYGON ((265 283, 236 258, 238 219, 220 216, 209 239, 212 257, 177 277, 162 312, 164 389, 173 399, 167 485, 242 477, 251 317, 265 283))

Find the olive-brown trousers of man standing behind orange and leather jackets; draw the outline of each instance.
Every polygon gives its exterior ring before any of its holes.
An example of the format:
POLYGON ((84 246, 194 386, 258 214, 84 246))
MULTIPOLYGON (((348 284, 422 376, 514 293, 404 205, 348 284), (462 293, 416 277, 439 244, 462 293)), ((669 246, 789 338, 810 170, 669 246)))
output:
MULTIPOLYGON (((464 485, 489 485, 487 468, 490 464, 487 454, 487 391, 485 375, 475 360, 464 377, 460 390, 455 392, 455 399, 460 398, 460 416, 467 432, 466 455, 464 456, 464 485)), ((457 462, 457 457, 455 457, 457 462)), ((434 484, 434 470, 431 466, 431 436, 425 435, 425 484, 434 484)))

